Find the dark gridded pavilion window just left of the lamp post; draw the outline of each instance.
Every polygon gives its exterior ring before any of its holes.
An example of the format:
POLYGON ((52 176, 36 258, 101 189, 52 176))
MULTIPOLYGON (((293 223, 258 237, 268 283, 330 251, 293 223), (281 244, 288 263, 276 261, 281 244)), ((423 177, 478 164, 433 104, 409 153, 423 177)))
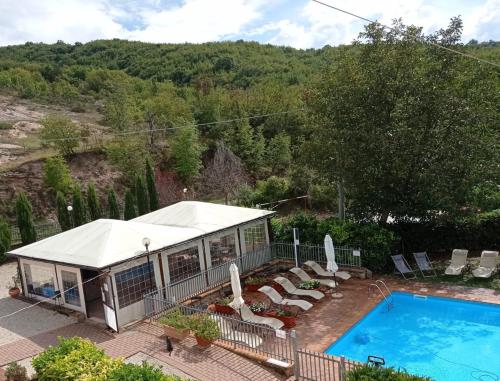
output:
POLYGON ((153 262, 117 272, 115 280, 120 308, 141 301, 146 292, 156 288, 153 262))

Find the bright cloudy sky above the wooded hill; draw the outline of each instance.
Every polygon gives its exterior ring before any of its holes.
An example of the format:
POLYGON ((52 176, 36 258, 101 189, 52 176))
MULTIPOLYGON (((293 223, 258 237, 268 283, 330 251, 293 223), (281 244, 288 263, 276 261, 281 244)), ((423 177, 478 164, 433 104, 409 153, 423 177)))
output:
MULTIPOLYGON (((460 15, 464 42, 500 40, 500 0, 323 1, 384 24, 401 17, 425 33, 460 15)), ((242 39, 307 49, 348 44, 363 24, 310 0, 0 0, 0 46, 242 39)))

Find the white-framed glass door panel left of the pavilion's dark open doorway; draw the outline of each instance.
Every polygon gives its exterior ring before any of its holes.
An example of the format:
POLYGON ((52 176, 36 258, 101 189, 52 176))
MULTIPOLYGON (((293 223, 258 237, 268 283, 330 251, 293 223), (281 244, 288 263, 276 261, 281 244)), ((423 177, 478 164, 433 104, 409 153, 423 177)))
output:
POLYGON ((61 291, 61 302, 65 307, 85 313, 82 277, 80 269, 57 266, 57 280, 61 291))

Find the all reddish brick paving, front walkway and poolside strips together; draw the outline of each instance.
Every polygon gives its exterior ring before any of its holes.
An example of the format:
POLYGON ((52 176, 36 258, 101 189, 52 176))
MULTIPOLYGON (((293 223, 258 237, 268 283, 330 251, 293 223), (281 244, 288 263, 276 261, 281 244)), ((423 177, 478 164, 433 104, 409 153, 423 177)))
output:
MULTIPOLYGON (((491 289, 436 285, 418 281, 405 282, 392 277, 384 279, 392 290, 423 295, 445 296, 471 301, 500 304, 500 292, 491 289)), ((350 279, 343 282, 342 299, 329 296, 306 313, 301 313, 296 331, 300 346, 313 351, 324 351, 333 341, 368 313, 381 297, 368 294, 373 280, 350 279)), ((260 293, 245 297, 256 300, 260 293)), ((71 324, 0 346, 0 365, 34 356, 49 345, 57 343, 57 336, 81 336, 96 342, 113 357, 147 355, 199 380, 284 380, 274 371, 238 356, 226 349, 212 346, 201 349, 195 340, 188 338, 174 343, 171 355, 164 351, 162 330, 148 323, 140 323, 118 335, 110 334, 89 323, 71 324)))

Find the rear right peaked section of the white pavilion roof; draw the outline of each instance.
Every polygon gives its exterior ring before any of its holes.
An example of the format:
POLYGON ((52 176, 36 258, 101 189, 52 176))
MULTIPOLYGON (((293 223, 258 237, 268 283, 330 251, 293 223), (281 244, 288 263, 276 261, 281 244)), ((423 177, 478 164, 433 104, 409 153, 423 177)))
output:
POLYGON ((207 234, 271 214, 274 212, 208 202, 182 201, 134 218, 132 221, 196 228, 207 234))

